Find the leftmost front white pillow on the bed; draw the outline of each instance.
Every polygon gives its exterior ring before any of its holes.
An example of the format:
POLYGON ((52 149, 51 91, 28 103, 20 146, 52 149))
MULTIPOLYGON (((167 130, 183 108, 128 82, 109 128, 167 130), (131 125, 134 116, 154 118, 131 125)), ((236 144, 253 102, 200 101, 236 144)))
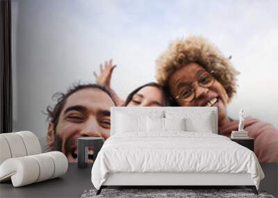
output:
POLYGON ((146 131, 146 117, 138 115, 125 115, 117 113, 116 132, 128 133, 128 132, 140 132, 146 131))

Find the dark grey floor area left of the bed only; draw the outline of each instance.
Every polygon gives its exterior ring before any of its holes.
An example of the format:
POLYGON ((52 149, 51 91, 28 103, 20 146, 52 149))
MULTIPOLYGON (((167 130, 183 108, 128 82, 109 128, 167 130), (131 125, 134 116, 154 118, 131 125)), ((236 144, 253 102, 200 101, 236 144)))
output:
POLYGON ((11 182, 0 184, 0 197, 81 197, 86 189, 92 189, 90 179, 92 165, 78 168, 69 164, 67 173, 60 178, 13 188, 11 182))

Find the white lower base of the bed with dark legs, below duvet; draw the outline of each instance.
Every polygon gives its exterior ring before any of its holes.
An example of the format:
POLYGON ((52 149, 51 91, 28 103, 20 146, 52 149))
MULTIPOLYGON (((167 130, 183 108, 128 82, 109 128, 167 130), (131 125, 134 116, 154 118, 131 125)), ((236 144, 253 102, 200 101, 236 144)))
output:
POLYGON ((258 195, 256 186, 251 179, 250 174, 228 174, 228 173, 127 173, 119 172, 108 174, 106 181, 97 190, 97 195, 101 190, 108 186, 124 186, 124 187, 153 187, 163 188, 188 188, 188 187, 234 187, 245 186, 251 188, 255 195, 258 195))

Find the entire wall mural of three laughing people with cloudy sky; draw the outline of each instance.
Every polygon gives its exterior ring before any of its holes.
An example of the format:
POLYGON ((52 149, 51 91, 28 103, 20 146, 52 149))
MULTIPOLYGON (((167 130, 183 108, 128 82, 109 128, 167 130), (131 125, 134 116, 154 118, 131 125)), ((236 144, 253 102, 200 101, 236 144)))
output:
POLYGON ((11 3, 13 130, 46 151, 76 162, 113 106, 217 106, 218 133, 244 108, 259 161, 278 163, 278 1, 11 3))

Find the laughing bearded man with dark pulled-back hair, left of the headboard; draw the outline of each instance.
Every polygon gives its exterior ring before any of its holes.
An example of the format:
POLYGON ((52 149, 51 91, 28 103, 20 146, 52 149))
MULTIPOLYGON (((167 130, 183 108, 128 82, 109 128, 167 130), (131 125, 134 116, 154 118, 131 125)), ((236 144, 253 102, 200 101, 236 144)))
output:
MULTIPOLYGON (((54 94, 56 96, 57 94, 54 94)), ((111 94, 100 85, 76 85, 59 93, 54 108, 47 107, 47 150, 62 151, 70 163, 77 162, 77 138, 110 136, 111 94)), ((89 161, 93 148, 89 148, 89 161)))

